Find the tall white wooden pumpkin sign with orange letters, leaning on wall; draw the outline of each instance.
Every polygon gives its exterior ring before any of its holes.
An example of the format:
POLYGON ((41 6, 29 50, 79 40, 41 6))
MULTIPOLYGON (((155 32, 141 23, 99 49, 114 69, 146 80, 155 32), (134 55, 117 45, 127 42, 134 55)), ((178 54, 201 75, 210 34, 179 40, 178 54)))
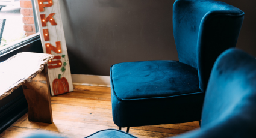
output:
POLYGON ((34 0, 34 4, 43 52, 54 55, 48 62, 51 93, 58 95, 73 91, 59 0, 34 0))

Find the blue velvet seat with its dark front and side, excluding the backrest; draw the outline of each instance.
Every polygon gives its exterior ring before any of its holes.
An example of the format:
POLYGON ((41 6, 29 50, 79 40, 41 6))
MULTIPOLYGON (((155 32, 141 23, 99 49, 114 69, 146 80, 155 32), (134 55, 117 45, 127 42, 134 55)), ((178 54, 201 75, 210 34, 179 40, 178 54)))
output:
POLYGON ((175 124, 201 118, 204 92, 199 89, 198 71, 187 64, 125 62, 111 67, 110 79, 113 120, 119 127, 175 124))

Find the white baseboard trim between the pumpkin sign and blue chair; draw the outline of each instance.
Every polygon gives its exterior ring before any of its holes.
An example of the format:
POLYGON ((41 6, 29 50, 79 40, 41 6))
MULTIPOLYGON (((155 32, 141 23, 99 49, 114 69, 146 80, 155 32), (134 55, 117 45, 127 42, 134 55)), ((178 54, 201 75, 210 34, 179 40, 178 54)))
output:
POLYGON ((110 87, 110 76, 71 74, 73 85, 110 87))

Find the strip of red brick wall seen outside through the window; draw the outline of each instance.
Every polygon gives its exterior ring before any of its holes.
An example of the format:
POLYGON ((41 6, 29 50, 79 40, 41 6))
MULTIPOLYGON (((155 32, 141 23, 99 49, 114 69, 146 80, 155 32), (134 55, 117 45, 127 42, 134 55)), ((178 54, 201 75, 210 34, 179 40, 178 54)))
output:
POLYGON ((20 0, 20 13, 22 14, 22 22, 24 23, 25 35, 29 36, 36 33, 34 25, 34 16, 31 0, 20 0))

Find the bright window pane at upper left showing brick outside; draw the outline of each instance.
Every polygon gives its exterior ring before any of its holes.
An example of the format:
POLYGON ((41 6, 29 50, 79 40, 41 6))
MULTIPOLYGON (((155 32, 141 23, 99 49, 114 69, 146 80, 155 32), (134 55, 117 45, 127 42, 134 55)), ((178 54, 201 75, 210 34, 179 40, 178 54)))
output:
POLYGON ((0 51, 38 32, 33 3, 31 0, 0 0, 0 51))

